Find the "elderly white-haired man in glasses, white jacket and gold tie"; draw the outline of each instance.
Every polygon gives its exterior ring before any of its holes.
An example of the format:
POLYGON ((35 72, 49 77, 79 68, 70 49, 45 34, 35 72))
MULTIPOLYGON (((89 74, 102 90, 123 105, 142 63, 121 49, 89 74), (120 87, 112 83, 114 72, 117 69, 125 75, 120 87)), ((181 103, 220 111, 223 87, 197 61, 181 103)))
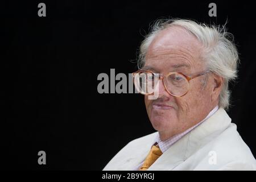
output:
POLYGON ((128 143, 104 170, 256 169, 225 111, 238 65, 230 37, 225 27, 192 20, 155 23, 141 44, 134 84, 157 132, 128 143))

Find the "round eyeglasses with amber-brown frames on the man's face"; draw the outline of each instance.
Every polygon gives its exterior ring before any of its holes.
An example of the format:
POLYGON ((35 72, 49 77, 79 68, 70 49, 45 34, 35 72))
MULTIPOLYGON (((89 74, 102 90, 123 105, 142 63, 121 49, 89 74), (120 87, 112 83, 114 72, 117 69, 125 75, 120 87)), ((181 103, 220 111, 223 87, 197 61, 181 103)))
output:
POLYGON ((184 96, 189 90, 189 81, 193 78, 205 75, 210 71, 205 71, 193 76, 187 76, 180 72, 170 72, 167 75, 154 73, 148 70, 140 69, 133 73, 134 85, 137 91, 143 95, 149 95, 155 92, 159 79, 163 79, 164 88, 169 94, 175 97, 184 96))

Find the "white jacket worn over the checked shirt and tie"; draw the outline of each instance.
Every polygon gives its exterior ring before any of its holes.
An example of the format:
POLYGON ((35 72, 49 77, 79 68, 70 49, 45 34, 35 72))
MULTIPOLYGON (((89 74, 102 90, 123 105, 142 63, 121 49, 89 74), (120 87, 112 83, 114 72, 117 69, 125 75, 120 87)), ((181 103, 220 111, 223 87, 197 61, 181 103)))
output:
MULTIPOLYGON (((146 158, 157 133, 129 142, 103 170, 134 170, 146 158)), ((223 108, 184 135, 148 170, 256 170, 250 148, 223 108)))

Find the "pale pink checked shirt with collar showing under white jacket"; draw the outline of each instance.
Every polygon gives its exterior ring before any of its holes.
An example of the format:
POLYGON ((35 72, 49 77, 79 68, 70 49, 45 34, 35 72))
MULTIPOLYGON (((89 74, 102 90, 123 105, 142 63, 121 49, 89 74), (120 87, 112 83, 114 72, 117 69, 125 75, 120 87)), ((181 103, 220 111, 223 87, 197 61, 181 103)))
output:
MULTIPOLYGON (((159 137, 159 133, 155 138, 155 142, 154 144, 157 142, 159 145, 160 150, 164 153, 165 151, 167 151, 168 148, 170 148, 172 146, 172 144, 174 144, 175 142, 177 142, 177 140, 179 140, 180 138, 182 138, 185 134, 189 133, 189 131, 195 129, 195 127, 199 126, 201 123, 203 123, 206 119, 208 119, 211 115, 213 115, 216 111, 218 110, 218 105, 216 107, 214 107, 213 110, 210 111, 210 113, 207 115, 207 117, 205 117, 202 121, 200 121, 199 123, 197 123, 196 125, 190 127, 189 129, 185 130, 183 133, 174 135, 171 138, 168 138, 164 141, 162 141, 159 137)), ((142 164, 144 163, 144 161, 139 164, 134 170, 139 170, 139 168, 142 166, 142 164)))

